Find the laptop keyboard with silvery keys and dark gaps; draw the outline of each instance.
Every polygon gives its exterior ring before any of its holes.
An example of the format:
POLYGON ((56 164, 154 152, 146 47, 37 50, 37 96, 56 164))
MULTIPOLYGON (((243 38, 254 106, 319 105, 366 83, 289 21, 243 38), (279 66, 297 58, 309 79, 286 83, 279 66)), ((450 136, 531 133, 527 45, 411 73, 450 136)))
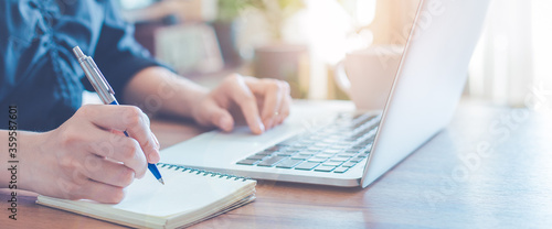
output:
POLYGON ((381 116, 339 115, 331 123, 284 140, 236 164, 344 173, 370 154, 381 116))

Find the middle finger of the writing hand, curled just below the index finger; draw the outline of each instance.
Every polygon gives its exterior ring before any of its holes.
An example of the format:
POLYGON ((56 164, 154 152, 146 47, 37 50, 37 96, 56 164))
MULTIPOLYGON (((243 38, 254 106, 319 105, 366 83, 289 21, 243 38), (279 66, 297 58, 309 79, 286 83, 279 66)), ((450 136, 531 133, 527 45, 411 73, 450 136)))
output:
MULTIPOLYGON (((88 131, 92 140, 88 144, 88 152, 100 156, 121 162, 129 167, 140 178, 146 174, 147 161, 140 144, 132 138, 119 135, 100 129, 88 131)), ((88 156, 85 160, 88 159, 88 156)))

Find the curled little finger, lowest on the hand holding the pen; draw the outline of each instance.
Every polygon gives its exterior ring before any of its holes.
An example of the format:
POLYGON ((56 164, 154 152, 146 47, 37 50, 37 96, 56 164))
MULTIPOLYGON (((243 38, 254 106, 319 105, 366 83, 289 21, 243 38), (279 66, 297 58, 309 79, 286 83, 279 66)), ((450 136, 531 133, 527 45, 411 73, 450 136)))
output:
POLYGON ((88 154, 85 160, 83 174, 93 181, 117 187, 126 187, 135 179, 131 168, 93 154, 88 154))

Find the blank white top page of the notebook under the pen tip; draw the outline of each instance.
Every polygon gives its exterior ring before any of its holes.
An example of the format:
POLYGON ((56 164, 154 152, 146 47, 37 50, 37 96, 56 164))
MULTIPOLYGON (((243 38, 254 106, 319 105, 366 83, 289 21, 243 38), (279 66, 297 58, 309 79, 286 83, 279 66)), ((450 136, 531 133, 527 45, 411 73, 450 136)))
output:
POLYGON ((151 174, 126 188, 126 197, 113 208, 157 217, 183 214, 215 203, 254 181, 234 181, 160 168, 164 184, 151 174))

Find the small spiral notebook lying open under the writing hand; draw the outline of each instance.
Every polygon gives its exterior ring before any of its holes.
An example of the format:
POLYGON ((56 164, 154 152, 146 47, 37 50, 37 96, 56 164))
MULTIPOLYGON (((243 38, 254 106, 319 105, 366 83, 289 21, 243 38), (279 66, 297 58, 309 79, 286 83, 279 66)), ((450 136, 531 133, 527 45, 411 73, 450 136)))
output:
POLYGON ((159 164, 164 184, 149 174, 126 189, 116 205, 39 196, 36 203, 137 228, 188 227, 255 199, 256 182, 245 177, 159 164))

